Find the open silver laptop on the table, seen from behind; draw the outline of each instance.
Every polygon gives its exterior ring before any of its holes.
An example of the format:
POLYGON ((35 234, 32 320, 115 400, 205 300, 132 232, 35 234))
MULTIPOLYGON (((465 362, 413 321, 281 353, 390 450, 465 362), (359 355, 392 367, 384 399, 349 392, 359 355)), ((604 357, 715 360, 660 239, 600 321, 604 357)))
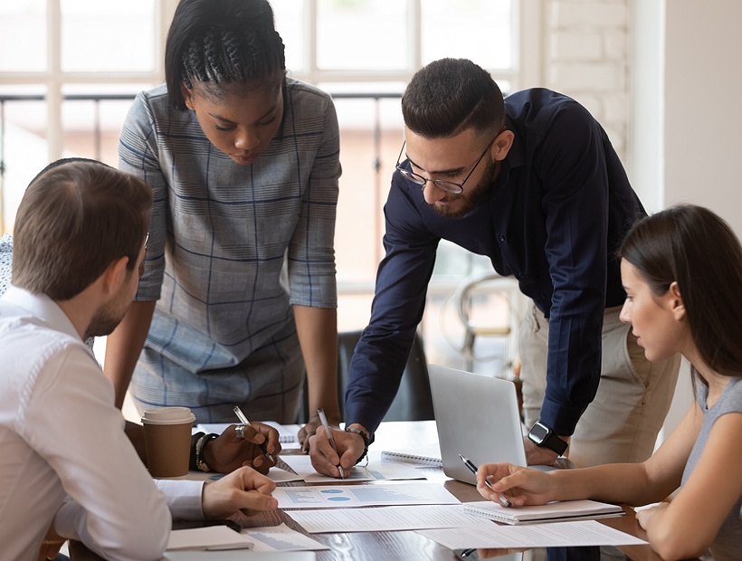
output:
POLYGON ((428 365, 443 472, 476 484, 459 454, 474 465, 508 461, 526 465, 518 395, 509 380, 428 365))

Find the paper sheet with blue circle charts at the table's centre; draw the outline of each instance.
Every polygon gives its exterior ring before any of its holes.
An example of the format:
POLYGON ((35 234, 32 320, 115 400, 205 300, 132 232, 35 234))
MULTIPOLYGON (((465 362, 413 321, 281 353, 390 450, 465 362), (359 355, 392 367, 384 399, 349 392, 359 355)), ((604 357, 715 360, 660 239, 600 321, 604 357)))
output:
POLYGON ((273 491, 279 509, 348 509, 392 505, 460 504, 438 483, 378 483, 279 487, 273 491))

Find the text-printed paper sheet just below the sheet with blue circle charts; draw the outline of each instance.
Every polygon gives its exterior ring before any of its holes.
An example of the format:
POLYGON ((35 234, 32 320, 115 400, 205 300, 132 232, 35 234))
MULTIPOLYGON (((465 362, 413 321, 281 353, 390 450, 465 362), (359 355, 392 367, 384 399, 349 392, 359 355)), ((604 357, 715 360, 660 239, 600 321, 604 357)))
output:
POLYGON ((310 534, 455 528, 481 522, 465 513, 463 505, 289 510, 287 514, 310 534))

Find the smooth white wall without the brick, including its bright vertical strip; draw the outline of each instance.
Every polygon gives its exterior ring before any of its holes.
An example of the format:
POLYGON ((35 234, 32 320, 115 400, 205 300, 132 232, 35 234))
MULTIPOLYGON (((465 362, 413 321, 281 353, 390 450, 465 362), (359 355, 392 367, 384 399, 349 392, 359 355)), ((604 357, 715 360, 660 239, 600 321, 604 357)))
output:
MULTIPOLYGON (((742 2, 633 0, 633 185, 650 212, 709 207, 742 236, 742 2)), ((665 435, 692 402, 680 371, 665 435)))

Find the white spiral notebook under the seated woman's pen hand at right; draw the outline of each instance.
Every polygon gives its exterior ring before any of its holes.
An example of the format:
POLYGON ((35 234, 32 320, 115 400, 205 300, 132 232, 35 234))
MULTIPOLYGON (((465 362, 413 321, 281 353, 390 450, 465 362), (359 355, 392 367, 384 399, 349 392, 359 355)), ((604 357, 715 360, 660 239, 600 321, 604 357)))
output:
POLYGON ((464 511, 489 518, 503 524, 537 524, 541 522, 564 522, 566 520, 585 520, 623 516, 623 509, 617 505, 595 500, 561 500, 546 505, 526 507, 503 507, 491 500, 464 503, 464 511))

